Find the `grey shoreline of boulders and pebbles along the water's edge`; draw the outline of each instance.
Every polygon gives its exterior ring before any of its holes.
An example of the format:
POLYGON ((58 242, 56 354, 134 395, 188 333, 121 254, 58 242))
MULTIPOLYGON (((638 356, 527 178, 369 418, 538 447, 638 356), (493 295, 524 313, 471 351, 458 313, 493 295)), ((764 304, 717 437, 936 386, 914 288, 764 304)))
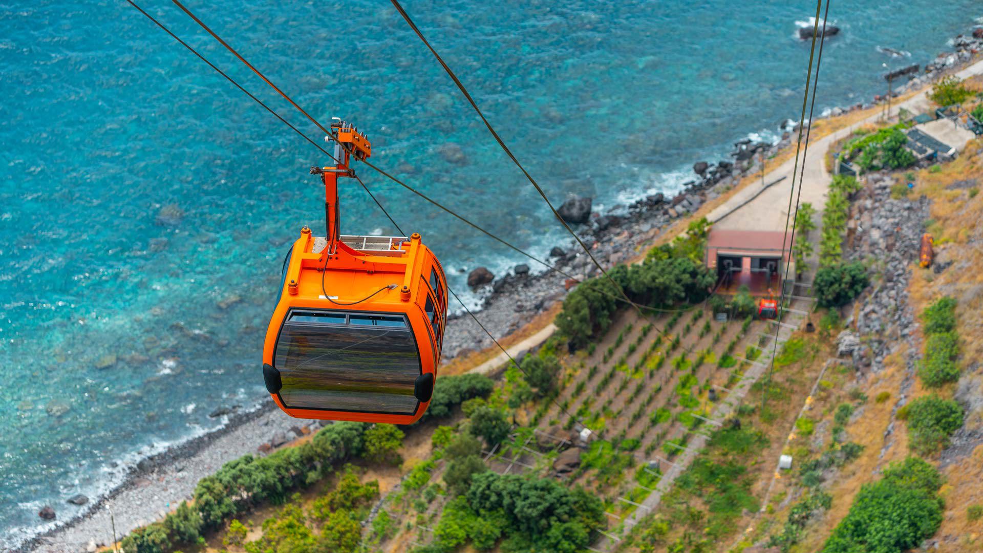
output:
MULTIPOLYGON (((925 72, 897 87, 892 95, 924 86, 941 75, 958 70, 983 51, 983 28, 977 27, 968 35, 960 34, 953 40, 954 52, 943 53, 926 65, 925 72)), ((908 71, 898 78, 918 73, 908 71)), ((886 97, 875 95, 872 102, 858 103, 846 108, 827 110, 823 117, 836 117, 852 110, 878 105, 886 97)), ((781 140, 775 144, 745 139, 734 145, 729 159, 716 163, 694 163, 694 178, 685 183, 684 189, 672 198, 655 194, 630 206, 607 210, 605 214, 591 212, 590 199, 570 199, 563 212, 572 222, 581 239, 588 244, 594 257, 606 268, 624 262, 638 253, 640 245, 652 239, 675 219, 695 212, 708 201, 719 197, 736 185, 740 179, 760 170, 759 157, 768 158, 791 145, 795 123, 781 123, 781 140), (584 206, 587 207, 586 215, 584 206), (579 221, 579 222, 578 222, 579 221)), ((557 269, 577 278, 596 276, 598 271, 584 253, 569 246, 552 248, 549 263, 557 269)), ((567 277, 548 271, 532 274, 530 265, 521 263, 505 276, 493 276, 488 270, 475 282, 475 288, 485 294, 480 319, 495 338, 503 338, 517 331, 536 315, 546 311, 565 297, 569 282, 567 277)), ((533 267, 532 269, 536 269, 533 267)), ((892 301, 899 300, 885 295, 892 301)), ((878 295, 877 297, 881 297, 878 295)), ((880 300, 879 300, 880 301, 880 300)), ((453 310, 453 308, 452 308, 453 310)), ((913 321, 910 314, 903 322, 908 329, 913 321)), ((467 314, 449 318, 444 338, 444 358, 481 350, 492 345, 492 340, 467 314)), ((861 351, 871 363, 880 362, 884 352, 861 351), (880 358, 880 359, 879 359, 880 358)), ((866 362, 866 361, 864 361, 866 362)), ((117 537, 162 516, 163 509, 176 507, 190 496, 200 478, 213 473, 222 463, 248 453, 269 451, 281 437, 293 439, 318 427, 287 417, 272 403, 263 401, 250 411, 229 413, 226 424, 165 452, 146 458, 130 468, 125 480, 97 501, 88 502, 87 510, 70 520, 60 522, 36 536, 29 537, 14 549, 16 552, 44 551, 71 552, 94 551, 96 545, 109 543, 111 535, 107 507, 113 507, 117 537), (304 426, 299 426, 303 424, 304 426)), ((286 440, 284 440, 286 441, 286 440)), ((57 515, 57 506, 54 508, 57 515)))

